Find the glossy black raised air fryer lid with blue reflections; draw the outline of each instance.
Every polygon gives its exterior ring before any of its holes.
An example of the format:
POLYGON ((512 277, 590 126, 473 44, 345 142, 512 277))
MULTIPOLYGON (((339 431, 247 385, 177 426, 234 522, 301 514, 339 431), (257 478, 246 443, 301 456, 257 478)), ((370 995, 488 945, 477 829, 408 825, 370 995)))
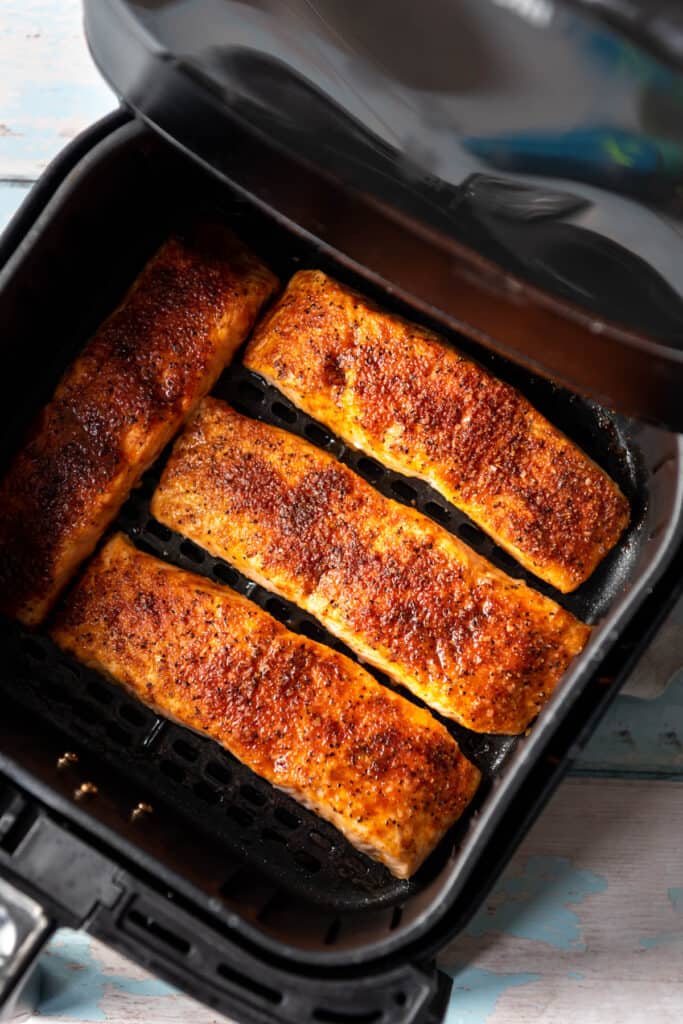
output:
MULTIPOLYGON (((492 349, 683 431, 683 76, 553 0, 85 0, 175 144, 492 349)), ((644 37, 643 37, 644 38, 644 37)))

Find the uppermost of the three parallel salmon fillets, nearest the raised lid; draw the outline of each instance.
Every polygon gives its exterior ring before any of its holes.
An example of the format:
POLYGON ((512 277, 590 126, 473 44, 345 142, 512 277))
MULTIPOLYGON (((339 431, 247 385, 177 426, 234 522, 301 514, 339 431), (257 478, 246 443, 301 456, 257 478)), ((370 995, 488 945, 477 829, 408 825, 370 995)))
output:
POLYGON ((245 361, 560 591, 590 577, 629 521, 616 484, 514 388, 319 271, 295 274, 245 361))

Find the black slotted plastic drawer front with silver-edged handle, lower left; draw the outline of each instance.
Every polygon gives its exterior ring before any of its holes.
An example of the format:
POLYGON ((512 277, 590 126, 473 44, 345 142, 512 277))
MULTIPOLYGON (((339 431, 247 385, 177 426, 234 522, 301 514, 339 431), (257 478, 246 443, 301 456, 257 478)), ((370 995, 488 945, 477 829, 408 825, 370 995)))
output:
POLYGON ((229 916, 207 923, 180 906, 0 774, 0 1019, 12 1019, 22 979, 58 926, 85 928, 244 1024, 440 1024, 451 990, 433 963, 360 965, 343 978, 269 964, 229 916))

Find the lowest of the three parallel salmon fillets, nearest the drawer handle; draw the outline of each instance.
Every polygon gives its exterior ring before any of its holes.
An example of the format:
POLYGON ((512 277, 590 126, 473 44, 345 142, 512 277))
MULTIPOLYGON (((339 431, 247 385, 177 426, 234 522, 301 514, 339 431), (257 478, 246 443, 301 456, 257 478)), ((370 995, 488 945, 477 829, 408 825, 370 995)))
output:
POLYGON ((51 635, 162 715, 217 740, 397 878, 417 870, 479 782, 428 712, 122 535, 87 567, 51 635))

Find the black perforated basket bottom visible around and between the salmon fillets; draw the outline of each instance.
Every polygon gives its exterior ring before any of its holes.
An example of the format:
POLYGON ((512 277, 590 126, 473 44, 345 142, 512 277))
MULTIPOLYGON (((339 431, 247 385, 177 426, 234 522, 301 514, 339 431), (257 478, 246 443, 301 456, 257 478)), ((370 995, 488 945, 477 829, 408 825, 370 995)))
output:
MULTIPOLYGON (((635 544, 622 545, 579 592, 560 596, 540 584, 427 485, 385 470, 374 460, 346 447, 308 417, 297 411, 275 389, 237 361, 221 377, 214 394, 240 412, 286 427, 332 452, 390 498, 416 506, 446 529, 512 575, 551 594, 580 617, 592 621, 601 614, 635 557, 635 544)), ((565 394, 565 393, 563 393, 565 394)), ((593 454, 612 472, 638 504, 640 488, 637 460, 629 439, 615 420, 590 402, 566 399, 574 427, 602 442, 593 454), (601 420, 598 423, 598 417, 601 420), (596 426, 599 429, 596 429, 596 426)), ((559 409, 561 413, 561 407, 559 409)), ((557 422, 557 420, 556 420, 557 422)), ((577 434, 574 429, 574 436, 577 434)), ((329 635, 310 615, 268 593, 220 559, 172 532, 150 514, 150 498, 157 485, 165 454, 144 477, 122 509, 115 528, 122 529, 143 550, 191 571, 234 588, 290 629, 353 657, 340 641, 329 635)), ((642 504, 642 503, 641 503, 642 504)), ((637 529, 634 516, 632 530, 637 529)), ((49 720, 74 741, 97 754, 117 771, 143 785, 152 800, 177 809, 211 842, 223 844, 232 858, 249 864, 250 887, 255 874, 274 893, 284 889, 336 912, 359 908, 398 906, 427 884, 467 828, 485 799, 492 779, 520 740, 476 734, 441 719, 464 753, 483 773, 483 782, 471 808, 439 848, 410 882, 399 882, 388 870, 357 853, 337 829, 301 808, 290 797, 255 776, 218 744, 159 718, 120 688, 62 654, 49 639, 8 625, 12 674, 4 680, 6 691, 36 714, 49 720), (12 653, 13 651, 13 653, 12 653)), ((372 670, 371 670, 372 671, 372 670)), ((388 680, 375 673, 386 685, 388 680)), ((414 699, 411 694, 404 694, 414 699)), ((419 702, 416 700, 416 702, 419 702)), ((234 889, 240 872, 230 868, 224 893, 234 889)), ((266 900, 267 904, 267 900, 266 900)))

